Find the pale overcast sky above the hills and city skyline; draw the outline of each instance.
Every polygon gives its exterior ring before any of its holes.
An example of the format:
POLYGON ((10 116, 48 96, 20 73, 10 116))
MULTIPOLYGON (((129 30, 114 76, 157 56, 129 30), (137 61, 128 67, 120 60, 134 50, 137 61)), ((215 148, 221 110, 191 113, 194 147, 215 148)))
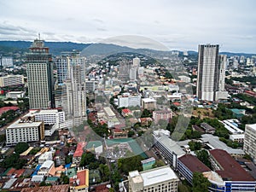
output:
POLYGON ((152 38, 170 49, 256 53, 255 0, 1 0, 0 40, 152 38))

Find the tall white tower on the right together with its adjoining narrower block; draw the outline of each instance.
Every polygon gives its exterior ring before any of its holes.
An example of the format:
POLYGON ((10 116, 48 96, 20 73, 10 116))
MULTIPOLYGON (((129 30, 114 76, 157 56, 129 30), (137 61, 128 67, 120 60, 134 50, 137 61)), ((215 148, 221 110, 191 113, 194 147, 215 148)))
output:
POLYGON ((227 97, 224 91, 226 56, 218 55, 218 49, 218 44, 198 47, 196 96, 199 100, 213 102, 227 97))

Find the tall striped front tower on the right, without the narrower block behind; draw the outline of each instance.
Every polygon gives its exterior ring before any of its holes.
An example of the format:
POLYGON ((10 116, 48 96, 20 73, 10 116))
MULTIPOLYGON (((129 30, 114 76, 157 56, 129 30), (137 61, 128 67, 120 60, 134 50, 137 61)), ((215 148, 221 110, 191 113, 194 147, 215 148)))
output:
POLYGON ((218 44, 201 44, 198 47, 196 96, 199 100, 216 101, 219 86, 218 44))

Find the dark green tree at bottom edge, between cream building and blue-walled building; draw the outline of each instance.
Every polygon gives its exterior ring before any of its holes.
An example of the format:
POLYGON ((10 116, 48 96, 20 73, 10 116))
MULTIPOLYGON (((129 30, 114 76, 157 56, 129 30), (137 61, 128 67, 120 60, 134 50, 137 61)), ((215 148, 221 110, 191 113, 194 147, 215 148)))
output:
POLYGON ((202 192, 208 191, 208 187, 210 187, 211 183, 208 181, 207 177, 204 177, 201 172, 194 172, 193 179, 193 192, 202 192))

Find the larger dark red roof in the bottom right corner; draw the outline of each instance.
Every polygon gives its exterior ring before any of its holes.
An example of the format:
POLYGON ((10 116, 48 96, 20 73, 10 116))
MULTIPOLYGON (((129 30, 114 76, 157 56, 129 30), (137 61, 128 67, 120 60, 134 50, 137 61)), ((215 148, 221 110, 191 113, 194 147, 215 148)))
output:
POLYGON ((230 154, 222 149, 210 150, 212 158, 218 162, 222 170, 216 171, 224 180, 230 181, 255 181, 230 154))

